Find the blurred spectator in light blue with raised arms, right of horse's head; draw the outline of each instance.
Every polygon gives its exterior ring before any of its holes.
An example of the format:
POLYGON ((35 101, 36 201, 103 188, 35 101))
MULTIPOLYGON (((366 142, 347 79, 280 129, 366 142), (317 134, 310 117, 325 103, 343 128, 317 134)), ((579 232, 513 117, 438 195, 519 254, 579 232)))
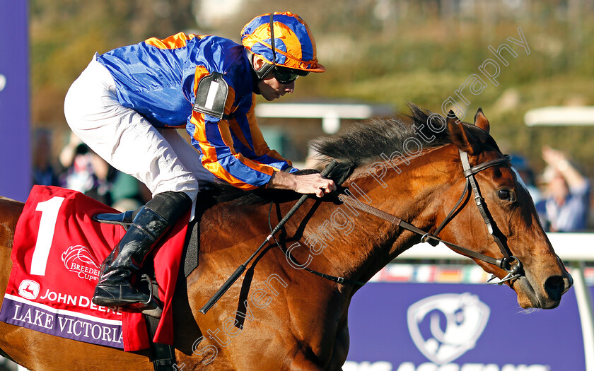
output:
POLYGON ((586 229, 590 207, 590 182, 566 155, 548 146, 542 148, 547 163, 542 180, 544 198, 536 205, 545 230, 577 232, 586 229))

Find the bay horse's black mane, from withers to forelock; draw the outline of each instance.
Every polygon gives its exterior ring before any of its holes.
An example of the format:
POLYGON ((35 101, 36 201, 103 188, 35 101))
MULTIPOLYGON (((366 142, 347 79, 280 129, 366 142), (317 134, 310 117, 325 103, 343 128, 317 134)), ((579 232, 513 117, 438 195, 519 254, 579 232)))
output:
MULTIPOLYGON (((428 119, 432 115, 428 110, 424 110, 413 103, 407 105, 411 114, 403 114, 401 117, 393 119, 373 119, 371 122, 353 124, 342 134, 329 137, 320 137, 310 142, 310 146, 318 153, 320 162, 327 158, 336 159, 340 165, 332 171, 330 177, 334 180, 346 179, 354 168, 378 160, 385 160, 382 156, 388 156, 395 151, 404 154, 406 151, 407 139, 417 139, 422 144, 419 151, 425 151, 428 148, 436 148, 452 143, 447 129, 433 131, 429 129, 428 119), (421 132, 422 134, 419 134, 421 132), (426 141, 425 138, 432 139, 426 141)), ((434 126, 443 125, 443 117, 433 123, 434 126)), ((497 144, 489 134, 472 124, 462 123, 467 131, 475 139, 482 143, 497 148, 497 144)), ((296 174, 308 174, 318 172, 318 170, 301 170, 296 174)), ((212 184, 211 194, 214 195, 216 202, 225 202, 233 200, 237 204, 259 204, 262 202, 290 201, 297 199, 299 194, 291 191, 279 191, 273 189, 255 189, 254 191, 241 191, 235 187, 216 182, 212 184)))

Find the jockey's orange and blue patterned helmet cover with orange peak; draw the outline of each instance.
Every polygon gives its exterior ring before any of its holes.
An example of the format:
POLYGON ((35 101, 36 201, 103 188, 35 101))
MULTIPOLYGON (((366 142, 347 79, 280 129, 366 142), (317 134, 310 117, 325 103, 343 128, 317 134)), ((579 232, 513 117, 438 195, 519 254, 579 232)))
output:
POLYGON ((272 66, 295 70, 301 76, 326 71, 316 59, 315 40, 308 25, 290 12, 267 13, 252 19, 241 31, 241 43, 269 64, 267 71, 272 66))

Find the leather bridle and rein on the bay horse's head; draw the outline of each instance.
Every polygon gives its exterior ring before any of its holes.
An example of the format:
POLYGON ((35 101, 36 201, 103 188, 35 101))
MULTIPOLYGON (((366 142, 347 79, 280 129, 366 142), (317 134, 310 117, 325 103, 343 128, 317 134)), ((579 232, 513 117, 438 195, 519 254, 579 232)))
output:
POLYGON ((462 192, 462 196, 460 196, 458 203, 455 204, 450 213, 448 213, 448 216, 445 217, 445 219, 441 222, 441 224, 438 226, 435 232, 433 232, 433 234, 421 230, 415 227, 414 225, 398 218, 397 216, 393 216, 389 213, 386 213, 385 211, 381 211, 380 209, 375 208, 371 205, 363 204, 361 201, 356 200, 353 197, 341 196, 340 199, 342 202, 344 202, 344 204, 347 204, 348 206, 352 206, 366 213, 371 213, 372 215, 378 216, 378 218, 382 218, 384 220, 388 220, 390 223, 404 228, 405 230, 409 230, 411 232, 417 233, 418 235, 421 235, 421 242, 429 242, 429 244, 433 246, 436 246, 439 242, 442 242, 444 245, 450 247, 450 249, 453 249, 455 252, 466 255, 468 257, 479 259, 488 264, 493 264, 494 266, 498 266, 499 268, 508 272, 508 274, 501 279, 497 278, 495 275, 492 275, 489 281, 487 281, 487 283, 497 283, 501 285, 506 281, 510 281, 523 276, 524 271, 522 268, 522 262, 517 257, 514 257, 511 254, 510 249, 505 244, 503 244, 502 239, 505 239, 505 237, 503 236, 499 228, 497 228, 495 221, 489 213, 489 210, 487 210, 487 205, 484 204, 484 199, 482 198, 481 192, 477 185, 477 179, 474 178, 474 175, 478 172, 481 172, 482 170, 488 169, 489 167, 509 163, 509 155, 503 155, 503 157, 501 158, 489 160, 484 163, 480 163, 479 165, 476 165, 474 167, 471 167, 470 162, 468 161, 468 154, 464 151, 460 151, 460 160, 462 161, 462 169, 464 170, 464 177, 466 178, 464 191, 462 192), (489 257, 487 255, 480 254, 479 252, 474 252, 471 249, 455 245, 452 242, 447 242, 437 237, 437 235, 439 234, 439 232, 441 232, 441 230, 443 230, 445 225, 447 225, 450 222, 450 220, 452 220, 455 217, 455 213, 456 211, 458 211, 458 208, 462 204, 462 201, 464 201, 464 199, 466 198, 467 193, 471 191, 474 196, 474 203, 477 205, 479 213, 481 214, 484 223, 487 225, 489 234, 493 237, 497 246, 499 246, 501 254, 503 254, 503 258, 501 259, 495 259, 494 257, 489 257))

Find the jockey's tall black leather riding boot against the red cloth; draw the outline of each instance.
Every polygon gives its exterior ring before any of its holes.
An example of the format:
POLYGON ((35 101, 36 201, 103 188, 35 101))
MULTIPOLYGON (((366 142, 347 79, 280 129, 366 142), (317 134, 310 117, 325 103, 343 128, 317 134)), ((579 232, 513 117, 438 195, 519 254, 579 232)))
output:
POLYGON ((183 192, 157 194, 134 217, 122 240, 103 264, 93 303, 104 307, 127 306, 141 310, 150 299, 132 285, 132 277, 156 242, 192 205, 183 192))

